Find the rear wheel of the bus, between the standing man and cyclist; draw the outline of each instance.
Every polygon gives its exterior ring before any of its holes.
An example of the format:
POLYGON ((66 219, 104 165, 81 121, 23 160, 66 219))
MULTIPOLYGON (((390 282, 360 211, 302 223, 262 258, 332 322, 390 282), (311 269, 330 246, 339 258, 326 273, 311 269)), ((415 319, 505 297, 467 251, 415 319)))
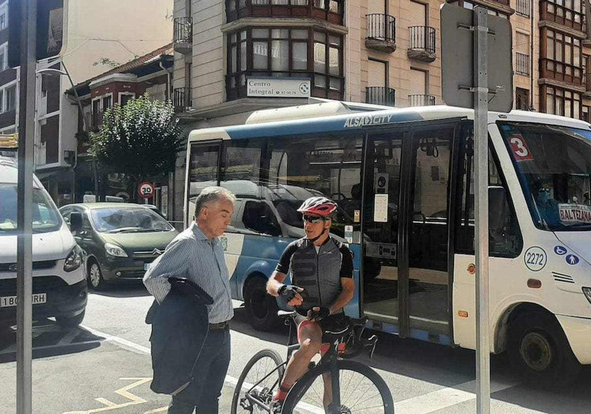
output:
POLYGON ((280 322, 277 316, 277 300, 267 294, 266 282, 267 280, 262 277, 254 277, 248 281, 244 289, 246 313, 252 327, 257 331, 271 331, 280 322))

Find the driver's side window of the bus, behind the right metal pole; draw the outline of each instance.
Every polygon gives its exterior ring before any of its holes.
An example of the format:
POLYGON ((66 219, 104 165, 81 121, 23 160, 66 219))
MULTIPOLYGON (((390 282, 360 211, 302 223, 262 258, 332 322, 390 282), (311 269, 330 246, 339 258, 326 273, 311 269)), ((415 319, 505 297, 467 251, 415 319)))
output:
MULTIPOLYGON (((470 131, 471 135, 471 131, 470 131)), ((472 136, 466 140, 466 151, 463 160, 463 180, 460 189, 460 209, 457 220, 456 247, 459 253, 474 254, 475 237, 475 183, 474 159, 472 152, 472 136), (466 183, 469 183, 466 185, 466 183)), ((495 215, 494 221, 489 221, 489 255, 498 257, 517 257, 521 252, 521 231, 515 216, 515 210, 495 157, 488 151, 488 183, 505 189, 506 201, 504 206, 496 206, 495 211, 501 210, 505 214, 495 215)), ((489 199, 489 204, 492 200, 489 199)), ((491 208, 491 206, 489 206, 491 208)))

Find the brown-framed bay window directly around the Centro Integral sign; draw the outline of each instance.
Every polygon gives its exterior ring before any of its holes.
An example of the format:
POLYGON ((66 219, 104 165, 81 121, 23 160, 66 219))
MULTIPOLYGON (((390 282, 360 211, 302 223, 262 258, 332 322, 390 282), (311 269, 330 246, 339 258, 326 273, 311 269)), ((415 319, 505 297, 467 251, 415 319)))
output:
POLYGON ((343 38, 307 28, 248 28, 228 35, 228 100, 246 96, 246 76, 310 77, 311 95, 342 99, 343 38))

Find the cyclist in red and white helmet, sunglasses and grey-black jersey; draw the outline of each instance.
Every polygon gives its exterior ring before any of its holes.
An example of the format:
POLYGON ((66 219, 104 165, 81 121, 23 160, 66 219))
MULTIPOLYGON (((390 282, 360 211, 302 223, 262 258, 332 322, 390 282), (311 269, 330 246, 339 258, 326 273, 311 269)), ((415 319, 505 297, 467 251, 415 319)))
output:
MULTIPOLYGON (((355 293, 353 260, 346 245, 329 236, 336 209, 336 203, 326 197, 312 197, 303 202, 297 211, 303 214, 306 237, 285 248, 267 283, 269 295, 281 295, 288 305, 295 306, 300 343, 300 350, 285 368, 274 397, 275 407, 282 405, 293 384, 306 373, 314 355, 328 349, 322 346, 326 342, 322 340, 323 333, 344 332, 347 327, 343 308, 355 293), (293 284, 284 284, 288 273, 293 284)), ((323 400, 325 407, 332 400, 327 377, 324 377, 323 400)))

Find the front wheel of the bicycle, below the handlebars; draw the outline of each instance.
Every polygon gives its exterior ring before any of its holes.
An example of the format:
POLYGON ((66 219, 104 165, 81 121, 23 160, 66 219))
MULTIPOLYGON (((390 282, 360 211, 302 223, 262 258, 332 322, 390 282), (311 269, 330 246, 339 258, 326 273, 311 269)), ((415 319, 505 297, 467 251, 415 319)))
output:
POLYGON ((281 412, 394 414, 392 394, 376 371, 357 361, 337 361, 336 364, 339 373, 339 407, 331 404, 332 393, 324 396, 324 379, 330 384, 330 364, 323 364, 308 371, 297 381, 281 412))

